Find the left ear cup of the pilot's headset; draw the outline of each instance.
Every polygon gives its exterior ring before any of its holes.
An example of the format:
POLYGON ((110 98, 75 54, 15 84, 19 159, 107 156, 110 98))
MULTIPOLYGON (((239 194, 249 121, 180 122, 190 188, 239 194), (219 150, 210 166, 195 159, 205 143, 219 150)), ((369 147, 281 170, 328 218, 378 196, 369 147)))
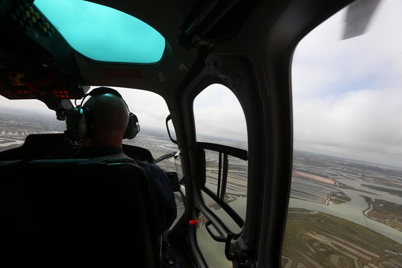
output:
POLYGON ((68 110, 66 115, 66 128, 70 135, 74 138, 80 139, 85 136, 87 132, 86 117, 82 108, 72 107, 68 110))

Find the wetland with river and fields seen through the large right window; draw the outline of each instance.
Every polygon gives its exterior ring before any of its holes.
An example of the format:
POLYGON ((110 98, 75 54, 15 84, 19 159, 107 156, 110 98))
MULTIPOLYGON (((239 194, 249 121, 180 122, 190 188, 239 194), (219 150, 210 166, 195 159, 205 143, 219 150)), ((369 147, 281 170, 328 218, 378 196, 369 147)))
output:
POLYGON ((402 169, 294 151, 282 267, 402 267, 402 169))

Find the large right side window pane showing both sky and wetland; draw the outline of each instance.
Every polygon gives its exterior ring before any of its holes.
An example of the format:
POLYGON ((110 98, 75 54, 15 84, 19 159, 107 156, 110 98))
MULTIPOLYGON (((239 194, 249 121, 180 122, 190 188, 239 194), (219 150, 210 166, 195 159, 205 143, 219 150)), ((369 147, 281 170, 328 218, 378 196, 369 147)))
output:
POLYGON ((381 1, 365 34, 341 40, 347 8, 293 56, 282 267, 402 267, 402 4, 381 1))

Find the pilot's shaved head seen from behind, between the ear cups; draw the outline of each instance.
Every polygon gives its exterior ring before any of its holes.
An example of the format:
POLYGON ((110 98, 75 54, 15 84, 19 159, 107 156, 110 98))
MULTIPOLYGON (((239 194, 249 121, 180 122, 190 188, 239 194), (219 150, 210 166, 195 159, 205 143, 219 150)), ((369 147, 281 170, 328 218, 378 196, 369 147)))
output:
MULTIPOLYGON (((96 89, 95 89, 96 90, 96 89)), ((94 139, 123 139, 129 114, 125 102, 106 93, 90 97, 83 106, 90 109, 95 124, 94 139)))

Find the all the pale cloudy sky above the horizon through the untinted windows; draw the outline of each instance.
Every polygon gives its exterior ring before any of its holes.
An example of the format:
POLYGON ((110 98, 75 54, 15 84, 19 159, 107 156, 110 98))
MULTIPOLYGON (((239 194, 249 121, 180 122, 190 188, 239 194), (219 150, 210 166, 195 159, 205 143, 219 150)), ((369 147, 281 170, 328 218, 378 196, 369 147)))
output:
MULTIPOLYGON (((402 1, 382 0, 367 33, 340 40, 346 10, 309 33, 292 63, 294 148, 402 167, 402 1)), ((164 128, 163 98, 117 88, 142 126, 164 128)), ((45 104, 21 106, 54 115, 45 104)), ((0 105, 10 101, 0 96, 0 105)), ((194 102, 196 130, 246 139, 240 104, 227 88, 209 86, 194 102)))

